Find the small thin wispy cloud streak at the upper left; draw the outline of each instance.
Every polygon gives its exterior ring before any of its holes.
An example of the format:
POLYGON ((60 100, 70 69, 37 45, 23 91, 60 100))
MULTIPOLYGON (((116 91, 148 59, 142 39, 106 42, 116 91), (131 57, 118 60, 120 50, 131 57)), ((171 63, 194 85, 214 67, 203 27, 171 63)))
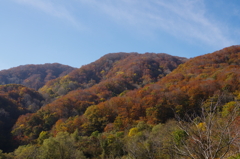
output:
POLYGON ((53 3, 51 0, 14 0, 20 4, 29 5, 37 8, 51 16, 61 18, 71 22, 73 25, 79 27, 79 22, 74 18, 73 15, 63 6, 53 3))

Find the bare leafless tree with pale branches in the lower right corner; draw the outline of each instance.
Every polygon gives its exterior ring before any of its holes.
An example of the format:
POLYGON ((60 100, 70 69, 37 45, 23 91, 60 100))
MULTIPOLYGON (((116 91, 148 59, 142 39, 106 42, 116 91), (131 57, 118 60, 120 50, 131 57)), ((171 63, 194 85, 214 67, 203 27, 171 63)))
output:
POLYGON ((222 111, 219 97, 217 101, 202 104, 198 114, 186 115, 184 119, 177 116, 181 133, 177 136, 178 142, 173 140, 174 152, 192 159, 223 159, 239 154, 240 103, 233 102, 227 114, 222 111))

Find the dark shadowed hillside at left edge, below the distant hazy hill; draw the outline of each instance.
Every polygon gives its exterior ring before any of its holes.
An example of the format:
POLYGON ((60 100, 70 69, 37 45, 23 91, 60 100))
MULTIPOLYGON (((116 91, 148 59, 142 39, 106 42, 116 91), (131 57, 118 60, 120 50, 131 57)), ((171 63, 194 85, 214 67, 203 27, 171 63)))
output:
POLYGON ((37 111, 43 103, 41 94, 23 85, 0 86, 0 149, 9 150, 14 146, 11 128, 18 117, 37 111))

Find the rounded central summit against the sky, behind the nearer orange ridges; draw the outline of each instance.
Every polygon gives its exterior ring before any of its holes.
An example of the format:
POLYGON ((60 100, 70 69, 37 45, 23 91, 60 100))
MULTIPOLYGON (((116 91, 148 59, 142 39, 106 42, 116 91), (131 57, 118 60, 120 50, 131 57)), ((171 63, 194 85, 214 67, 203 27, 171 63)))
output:
POLYGON ((167 54, 107 54, 64 77, 49 81, 40 91, 50 97, 57 97, 78 88, 90 88, 111 78, 124 78, 135 87, 141 87, 147 83, 158 81, 185 61, 186 58, 167 54))

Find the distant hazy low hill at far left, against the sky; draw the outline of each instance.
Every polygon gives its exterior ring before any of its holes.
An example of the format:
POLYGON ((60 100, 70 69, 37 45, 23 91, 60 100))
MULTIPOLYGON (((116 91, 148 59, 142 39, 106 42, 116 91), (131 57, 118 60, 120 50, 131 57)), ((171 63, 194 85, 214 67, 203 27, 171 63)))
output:
POLYGON ((0 84, 22 84, 38 90, 49 80, 64 76, 74 69, 58 63, 18 66, 0 71, 0 84))

